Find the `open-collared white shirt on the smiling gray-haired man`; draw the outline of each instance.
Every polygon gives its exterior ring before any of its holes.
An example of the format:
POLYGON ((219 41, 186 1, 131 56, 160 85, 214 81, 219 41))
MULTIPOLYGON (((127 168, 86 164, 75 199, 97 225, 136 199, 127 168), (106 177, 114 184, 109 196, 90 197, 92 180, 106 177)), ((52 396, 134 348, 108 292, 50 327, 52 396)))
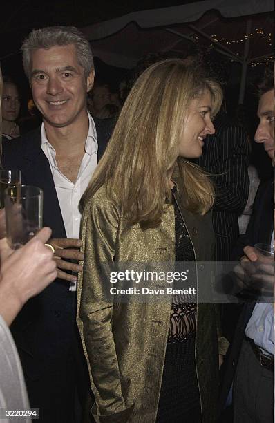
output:
MULTIPOLYGON (((79 200, 88 187, 93 171, 97 166, 97 133, 95 122, 88 113, 89 129, 85 144, 85 153, 79 167, 77 180, 70 181, 58 169, 55 159, 56 151, 48 142, 44 124, 41 126, 41 148, 48 159, 53 181, 57 191, 57 198, 61 209, 67 238, 79 238, 81 213, 79 212, 79 200)), ((76 283, 70 284, 70 290, 76 290, 76 283)))

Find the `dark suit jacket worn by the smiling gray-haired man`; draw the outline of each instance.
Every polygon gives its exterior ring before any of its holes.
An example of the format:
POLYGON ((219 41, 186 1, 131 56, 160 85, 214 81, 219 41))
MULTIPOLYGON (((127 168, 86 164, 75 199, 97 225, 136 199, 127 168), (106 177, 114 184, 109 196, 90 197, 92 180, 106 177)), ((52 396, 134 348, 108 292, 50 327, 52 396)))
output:
MULTIPOLYGON (((112 120, 95 120, 98 160, 113 129, 112 120)), ((22 183, 44 191, 44 225, 53 230, 53 238, 66 238, 61 210, 48 159, 41 149, 41 129, 3 143, 4 169, 21 169, 22 183)), ((66 357, 76 339, 76 295, 68 282, 56 279, 41 294, 30 299, 12 325, 26 379, 38 379, 49 366, 53 373, 58 360, 66 357), (48 364, 47 364, 48 363, 48 364)), ((27 380, 28 382, 28 380, 27 380)))

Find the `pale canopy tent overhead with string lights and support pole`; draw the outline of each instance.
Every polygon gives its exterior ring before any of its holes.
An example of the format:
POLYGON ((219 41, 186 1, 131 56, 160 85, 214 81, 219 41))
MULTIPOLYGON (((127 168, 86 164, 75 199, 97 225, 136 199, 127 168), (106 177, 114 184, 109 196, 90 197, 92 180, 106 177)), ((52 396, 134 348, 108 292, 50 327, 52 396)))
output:
POLYGON ((132 12, 86 26, 82 31, 97 57, 123 68, 132 68, 148 53, 180 52, 187 40, 199 37, 240 62, 239 103, 243 103, 248 64, 273 55, 273 20, 267 13, 273 8, 272 0, 206 0, 132 12), (261 32, 263 26, 267 34, 261 32), (256 34, 261 39, 256 39, 256 34))

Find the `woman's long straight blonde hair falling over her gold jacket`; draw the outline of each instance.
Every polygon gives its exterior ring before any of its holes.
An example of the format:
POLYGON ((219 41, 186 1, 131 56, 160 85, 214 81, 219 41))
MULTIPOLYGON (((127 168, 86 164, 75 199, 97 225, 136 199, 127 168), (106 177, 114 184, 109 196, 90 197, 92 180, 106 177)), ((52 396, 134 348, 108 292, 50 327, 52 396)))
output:
MULTIPOLYGON (((159 225, 165 201, 171 200, 170 173, 178 157, 191 100, 205 91, 220 109, 220 86, 180 59, 153 64, 135 82, 117 120, 108 147, 82 197, 82 206, 106 184, 107 194, 121 205, 129 224, 159 225)), ((195 164, 178 158, 184 205, 205 214, 214 188, 195 164)))

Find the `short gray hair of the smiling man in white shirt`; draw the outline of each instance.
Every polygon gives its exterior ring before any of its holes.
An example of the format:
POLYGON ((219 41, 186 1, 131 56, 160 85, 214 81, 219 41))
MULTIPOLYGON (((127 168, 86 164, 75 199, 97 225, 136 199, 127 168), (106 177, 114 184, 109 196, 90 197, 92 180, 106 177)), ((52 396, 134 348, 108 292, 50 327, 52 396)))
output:
POLYGON ((21 50, 23 52, 23 68, 30 79, 31 53, 38 48, 51 48, 55 46, 68 46, 73 44, 77 52, 79 65, 84 69, 87 78, 93 69, 93 53, 88 40, 75 26, 48 26, 32 30, 25 39, 21 50))

